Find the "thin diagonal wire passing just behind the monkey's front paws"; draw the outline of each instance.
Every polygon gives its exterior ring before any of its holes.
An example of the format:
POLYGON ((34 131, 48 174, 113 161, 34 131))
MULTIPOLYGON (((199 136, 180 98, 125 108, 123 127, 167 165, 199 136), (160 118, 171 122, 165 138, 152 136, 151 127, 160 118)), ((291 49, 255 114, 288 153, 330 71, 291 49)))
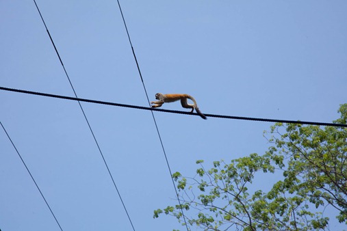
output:
MULTIPOLYGON (((119 2, 119 0, 117 0, 117 3, 118 3, 119 10, 120 10, 120 14, 122 15, 122 18, 123 18, 123 23, 124 23, 124 26, 125 26, 125 30, 127 31, 127 36, 128 36, 129 43, 130 43, 130 46, 131 46, 131 51, 133 52, 133 57, 134 57, 134 59, 135 59, 136 66, 138 67, 138 73, 140 74, 140 78, 141 78, 142 85, 143 85, 143 88, 144 88, 144 93, 146 94, 146 98, 147 98, 147 101, 148 101, 148 103, 149 103, 149 106, 151 106, 151 103, 149 102, 149 95, 147 94, 146 86, 144 85, 144 81, 143 81, 143 78, 142 78, 140 66, 139 66, 139 64, 138 64, 138 59, 136 58, 135 51, 133 50, 133 44, 132 44, 131 39, 130 39, 130 35, 129 35, 127 23, 125 23, 125 18, 124 18, 124 15, 123 15, 123 10, 122 10, 122 8, 120 7, 120 2, 119 2)), ((168 157, 166 156, 166 151, 165 151, 164 144, 163 144, 163 141, 162 141, 162 136, 161 136, 160 133, 159 133, 159 128, 158 128, 158 126, 157 126, 157 121, 155 120, 155 116, 154 116, 153 111, 151 111, 151 113, 152 113, 153 121, 154 121, 154 124, 155 124, 155 128, 157 129, 157 134, 158 134, 158 137, 159 137, 160 144, 162 145, 162 150, 163 150, 163 152, 164 152, 164 157, 165 157, 165 160, 166 160, 166 164, 168 165, 168 171, 170 172, 170 177, 171 177, 171 180, 172 180, 172 184, 173 184, 173 186, 174 186, 174 188, 175 188, 177 200, 178 200, 178 202, 179 202, 179 207, 180 207, 181 213, 182 213, 182 215, 183 215, 183 220, 184 220, 184 223, 185 223, 185 228, 187 228, 187 230, 189 230, 187 221, 185 221, 185 215, 184 215, 184 213, 183 213, 182 204, 181 204, 181 201, 179 200, 179 193, 177 192, 177 189, 176 189, 175 180, 174 180, 174 178, 173 178, 173 176, 172 176, 172 171, 171 171, 170 164, 169 164, 169 162, 168 162, 168 157)))

